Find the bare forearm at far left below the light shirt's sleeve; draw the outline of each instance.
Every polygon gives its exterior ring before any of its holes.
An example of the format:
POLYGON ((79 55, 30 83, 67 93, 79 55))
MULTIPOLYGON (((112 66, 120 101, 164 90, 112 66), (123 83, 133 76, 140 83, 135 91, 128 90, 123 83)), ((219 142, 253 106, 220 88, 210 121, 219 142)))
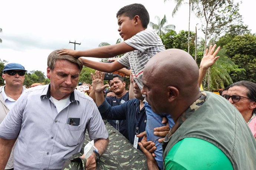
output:
POLYGON ((5 169, 16 139, 0 138, 0 170, 5 169))

